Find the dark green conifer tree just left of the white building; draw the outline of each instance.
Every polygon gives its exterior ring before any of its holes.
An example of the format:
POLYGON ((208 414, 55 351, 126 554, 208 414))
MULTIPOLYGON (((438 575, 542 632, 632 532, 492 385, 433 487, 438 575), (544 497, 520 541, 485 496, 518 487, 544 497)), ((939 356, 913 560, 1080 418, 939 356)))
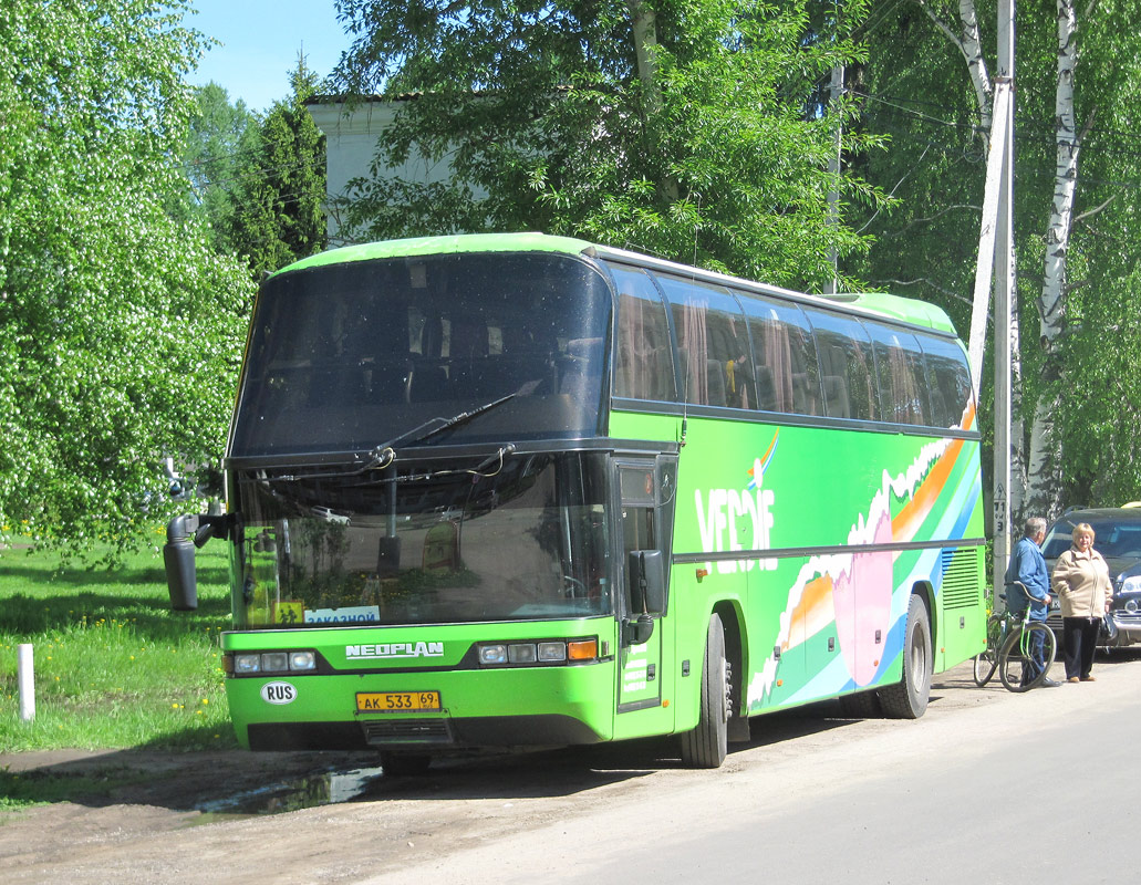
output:
POLYGON ((244 140, 233 176, 228 244, 256 277, 325 246, 325 143, 305 103, 317 78, 298 59, 292 94, 244 140))

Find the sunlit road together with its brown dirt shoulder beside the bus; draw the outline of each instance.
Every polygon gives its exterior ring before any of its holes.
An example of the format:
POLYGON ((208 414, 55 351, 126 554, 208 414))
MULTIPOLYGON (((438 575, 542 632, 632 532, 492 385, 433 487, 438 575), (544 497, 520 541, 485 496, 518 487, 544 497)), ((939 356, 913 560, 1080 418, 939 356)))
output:
MULTIPOLYGON (((961 666, 917 722, 845 720, 834 704, 763 717, 717 771, 647 744, 379 777, 274 814, 159 793, 57 802, 0 819, 0 880, 1128 882, 1141 656, 1094 672, 1011 695, 961 666)), ((209 773, 225 799, 225 772, 209 773)))

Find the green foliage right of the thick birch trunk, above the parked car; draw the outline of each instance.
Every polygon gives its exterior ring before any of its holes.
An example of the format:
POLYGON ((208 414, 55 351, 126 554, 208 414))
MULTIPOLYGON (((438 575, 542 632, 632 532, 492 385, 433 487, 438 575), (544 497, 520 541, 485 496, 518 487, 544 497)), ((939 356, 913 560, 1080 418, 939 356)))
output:
MULTIPOLYGON (((1053 3, 1035 6, 1052 25, 1053 3)), ((1036 350, 1035 377, 1052 385, 1042 396, 1053 392, 1063 404, 1057 424, 1062 503, 1116 506, 1141 498, 1141 34, 1123 25, 1141 21, 1141 2, 1099 0, 1079 5, 1079 13, 1075 106, 1082 155, 1066 317, 1057 352, 1036 350)), ((1052 50, 1057 46, 1044 35, 1036 54, 1045 59, 1043 78, 1052 73, 1052 50)), ((1053 107, 1046 97, 1030 104, 1036 98, 1026 103, 1028 135, 1049 146, 1053 107)), ((1039 237, 1041 230, 1039 224, 1039 237)))

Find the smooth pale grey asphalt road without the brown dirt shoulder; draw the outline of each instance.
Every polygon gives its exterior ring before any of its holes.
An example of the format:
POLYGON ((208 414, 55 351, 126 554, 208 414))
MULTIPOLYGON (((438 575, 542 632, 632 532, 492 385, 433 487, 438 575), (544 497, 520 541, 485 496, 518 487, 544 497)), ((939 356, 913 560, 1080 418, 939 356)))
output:
MULTIPOLYGON (((610 803, 600 790, 573 819, 369 882, 1127 882, 1132 658, 1118 653, 1095 683, 1027 695, 978 689, 958 668, 920 722, 762 738, 722 771, 657 772, 638 796, 610 803)), ((764 731, 755 723, 754 737, 764 731)))

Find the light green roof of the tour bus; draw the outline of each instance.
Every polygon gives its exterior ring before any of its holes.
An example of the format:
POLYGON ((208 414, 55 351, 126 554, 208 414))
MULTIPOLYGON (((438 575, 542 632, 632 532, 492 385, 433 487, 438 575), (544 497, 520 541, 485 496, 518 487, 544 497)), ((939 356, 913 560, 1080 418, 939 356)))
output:
MULTIPOLYGON (((369 261, 378 258, 445 255, 462 252, 561 252, 570 255, 585 253, 591 257, 599 255, 626 261, 634 260, 638 263, 645 263, 649 267, 669 268, 674 271, 693 273, 694 270, 694 268, 665 259, 642 255, 624 249, 614 249, 613 246, 600 246, 585 239, 527 232, 518 234, 448 234, 446 236, 410 237, 406 239, 362 243, 359 245, 330 249, 316 255, 304 258, 300 261, 294 261, 292 265, 283 267, 276 274, 304 270, 311 267, 341 265, 351 261, 369 261)), ((891 319, 947 332, 952 335, 955 334, 955 326, 952 324, 950 317, 941 308, 926 301, 917 301, 911 298, 889 295, 880 292, 812 295, 763 283, 751 283, 741 277, 731 277, 717 271, 698 270, 698 273, 706 278, 720 278, 727 283, 744 284, 747 289, 758 291, 760 294, 764 294, 766 290, 768 290, 772 294, 792 295, 816 301, 824 306, 832 305, 835 307, 843 305, 866 314, 876 314, 891 319)))

